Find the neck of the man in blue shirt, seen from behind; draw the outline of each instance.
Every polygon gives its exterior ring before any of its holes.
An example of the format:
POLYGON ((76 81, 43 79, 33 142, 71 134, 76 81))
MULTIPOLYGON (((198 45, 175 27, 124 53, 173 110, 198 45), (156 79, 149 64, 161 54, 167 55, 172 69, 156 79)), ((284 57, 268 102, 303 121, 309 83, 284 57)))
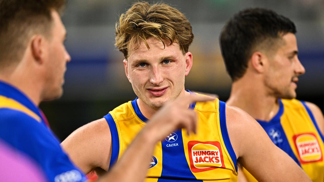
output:
POLYGON ((20 62, 14 68, 6 67, 1 70, 0 80, 13 85, 24 93, 36 106, 41 102, 42 82, 37 79, 37 73, 20 62))

